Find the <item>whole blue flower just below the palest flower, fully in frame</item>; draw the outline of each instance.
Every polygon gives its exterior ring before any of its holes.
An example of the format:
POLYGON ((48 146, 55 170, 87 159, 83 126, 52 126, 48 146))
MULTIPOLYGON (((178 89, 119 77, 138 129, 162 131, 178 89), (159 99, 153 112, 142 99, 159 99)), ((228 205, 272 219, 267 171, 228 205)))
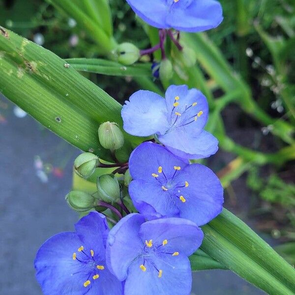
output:
POLYGON ((146 142, 129 159, 129 194, 148 219, 181 217, 204 225, 222 211, 223 189, 206 166, 187 164, 166 148, 146 142))

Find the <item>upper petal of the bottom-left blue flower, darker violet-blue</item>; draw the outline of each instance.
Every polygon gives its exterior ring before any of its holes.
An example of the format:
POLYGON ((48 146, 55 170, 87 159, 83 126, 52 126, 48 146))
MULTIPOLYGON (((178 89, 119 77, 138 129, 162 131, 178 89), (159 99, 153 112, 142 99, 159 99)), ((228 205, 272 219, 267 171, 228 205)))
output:
POLYGON ((105 257, 104 238, 109 232, 109 227, 103 214, 90 212, 75 224, 75 229, 82 245, 88 246, 95 254, 99 253, 101 257, 105 257))

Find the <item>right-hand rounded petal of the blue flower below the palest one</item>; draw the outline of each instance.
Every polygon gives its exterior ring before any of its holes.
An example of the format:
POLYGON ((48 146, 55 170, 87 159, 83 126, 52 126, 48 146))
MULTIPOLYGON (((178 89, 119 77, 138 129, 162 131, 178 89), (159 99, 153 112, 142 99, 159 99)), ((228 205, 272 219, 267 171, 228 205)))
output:
POLYGON ((181 190, 186 202, 179 207, 179 215, 204 225, 222 211, 221 183, 209 168, 200 164, 191 164, 182 173, 189 186, 181 190))

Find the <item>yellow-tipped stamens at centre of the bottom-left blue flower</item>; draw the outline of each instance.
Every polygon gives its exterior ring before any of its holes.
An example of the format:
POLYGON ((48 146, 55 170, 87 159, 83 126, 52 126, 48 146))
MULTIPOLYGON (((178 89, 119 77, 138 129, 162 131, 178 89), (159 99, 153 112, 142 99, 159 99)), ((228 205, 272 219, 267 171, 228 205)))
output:
POLYGON ((95 253, 91 249, 89 252, 84 249, 84 246, 78 248, 78 253, 73 253, 73 260, 77 261, 80 264, 83 264, 83 267, 86 265, 90 266, 89 277, 83 283, 83 286, 86 288, 91 284, 90 279, 96 280, 99 278, 98 270, 104 270, 104 266, 97 263, 95 259, 95 253))

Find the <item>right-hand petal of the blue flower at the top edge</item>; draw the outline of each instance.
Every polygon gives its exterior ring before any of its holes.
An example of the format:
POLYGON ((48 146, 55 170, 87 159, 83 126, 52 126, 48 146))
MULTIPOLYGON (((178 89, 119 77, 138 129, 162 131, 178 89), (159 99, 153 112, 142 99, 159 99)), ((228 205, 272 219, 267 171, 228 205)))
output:
MULTIPOLYGON (((180 1, 179 1, 180 2, 180 1)), ((199 32, 213 29, 223 20, 222 6, 215 0, 195 0, 186 8, 173 5, 166 23, 174 29, 199 32)))

